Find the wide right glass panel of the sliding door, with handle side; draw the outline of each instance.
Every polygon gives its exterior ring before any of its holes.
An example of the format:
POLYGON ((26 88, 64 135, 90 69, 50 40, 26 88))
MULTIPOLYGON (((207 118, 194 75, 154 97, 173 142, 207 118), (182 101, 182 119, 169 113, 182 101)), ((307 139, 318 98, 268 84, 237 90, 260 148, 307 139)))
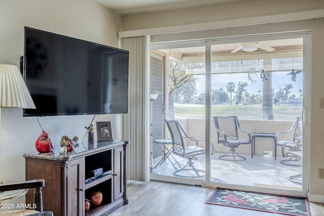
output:
POLYGON ((217 44, 211 52, 211 136, 220 142, 211 181, 302 191, 303 38, 217 44), (218 54, 224 47, 232 51, 218 54), (252 142, 222 143, 216 116, 237 116, 238 139, 252 142))

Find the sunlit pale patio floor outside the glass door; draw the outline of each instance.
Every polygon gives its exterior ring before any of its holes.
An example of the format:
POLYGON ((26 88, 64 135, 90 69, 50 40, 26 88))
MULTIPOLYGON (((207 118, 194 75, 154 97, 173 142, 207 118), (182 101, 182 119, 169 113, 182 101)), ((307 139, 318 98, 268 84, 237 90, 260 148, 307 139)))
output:
MULTIPOLYGON (((302 172, 302 166, 291 166, 281 164, 281 156, 274 160, 272 155, 241 154, 247 159, 244 161, 219 160, 218 157, 224 153, 214 152, 212 155, 212 182, 233 185, 247 185, 268 188, 279 188, 288 190, 302 190, 302 186, 289 181, 289 177, 302 172)), ((182 157, 173 155, 181 166, 188 161, 182 157)), ((154 166, 161 157, 154 159, 154 166)), ((286 159, 286 158, 285 158, 286 159)), ((172 159, 173 161, 173 159, 172 159)), ((178 168, 179 165, 175 164, 178 168)), ((205 170, 205 155, 198 155, 194 160, 194 166, 205 170)), ((152 174, 173 176, 176 169, 169 160, 153 169, 152 174)))

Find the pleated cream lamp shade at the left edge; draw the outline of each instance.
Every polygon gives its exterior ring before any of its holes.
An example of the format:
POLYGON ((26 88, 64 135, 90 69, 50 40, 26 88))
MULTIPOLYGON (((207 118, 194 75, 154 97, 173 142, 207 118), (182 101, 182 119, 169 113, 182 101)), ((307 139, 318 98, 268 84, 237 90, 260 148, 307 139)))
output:
POLYGON ((36 108, 16 65, 0 63, 0 107, 36 108))

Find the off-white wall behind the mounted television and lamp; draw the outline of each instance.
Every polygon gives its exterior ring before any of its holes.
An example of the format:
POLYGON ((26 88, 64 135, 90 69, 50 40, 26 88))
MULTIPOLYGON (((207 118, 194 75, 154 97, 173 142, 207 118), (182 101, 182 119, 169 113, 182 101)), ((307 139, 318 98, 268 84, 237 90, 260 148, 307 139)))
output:
MULTIPOLYGON (((2 0, 0 62, 19 65, 19 57, 23 55, 24 26, 117 47, 120 22, 119 15, 89 0, 2 0)), ((41 117, 39 122, 59 149, 64 135, 82 140, 87 132, 85 126, 92 118, 93 115, 51 116, 41 117)), ((121 115, 97 115, 94 125, 96 121, 111 121, 113 138, 123 139, 121 115)), ((25 180, 22 155, 35 151, 35 141, 41 133, 36 117, 22 117, 21 109, 1 109, 1 181, 25 180)), ((42 164, 35 167, 42 168, 42 164)))

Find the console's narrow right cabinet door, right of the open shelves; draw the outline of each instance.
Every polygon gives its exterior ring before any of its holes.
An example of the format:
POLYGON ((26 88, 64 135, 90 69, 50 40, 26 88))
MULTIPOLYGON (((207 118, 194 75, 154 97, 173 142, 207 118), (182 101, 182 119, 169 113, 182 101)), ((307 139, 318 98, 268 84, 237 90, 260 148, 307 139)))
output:
POLYGON ((118 147, 113 150, 113 199, 116 200, 124 193, 124 147, 118 147))

